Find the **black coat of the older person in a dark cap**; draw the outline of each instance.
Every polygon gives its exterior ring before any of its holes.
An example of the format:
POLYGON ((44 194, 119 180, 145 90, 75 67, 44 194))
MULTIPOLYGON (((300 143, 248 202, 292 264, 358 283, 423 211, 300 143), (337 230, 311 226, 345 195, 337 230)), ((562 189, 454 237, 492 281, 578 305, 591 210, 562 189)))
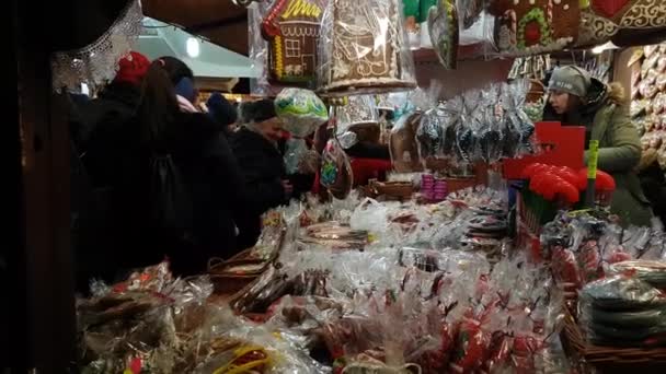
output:
POLYGON ((287 202, 282 184, 287 175, 276 144, 245 127, 233 135, 231 148, 243 174, 245 204, 236 223, 239 249, 244 249, 256 244, 261 215, 287 202))

